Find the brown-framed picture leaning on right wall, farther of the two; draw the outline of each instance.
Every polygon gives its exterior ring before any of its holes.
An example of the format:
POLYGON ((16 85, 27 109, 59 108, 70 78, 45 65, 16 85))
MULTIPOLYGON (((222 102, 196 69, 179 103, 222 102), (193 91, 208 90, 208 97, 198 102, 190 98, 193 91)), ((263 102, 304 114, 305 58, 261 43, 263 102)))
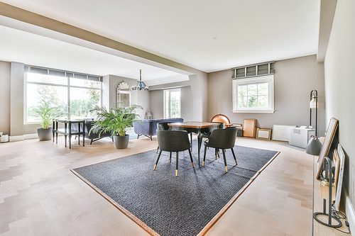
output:
POLYGON ((334 140, 335 133, 337 132, 339 120, 336 118, 330 119, 328 128, 327 128, 327 133, 325 134, 324 138, 324 143, 322 146, 322 149, 320 150, 320 157, 318 157, 318 162, 317 162, 317 174, 316 178, 320 179, 320 175, 323 172, 323 160, 324 157, 327 157, 329 154, 330 147, 332 146, 332 142, 334 140))

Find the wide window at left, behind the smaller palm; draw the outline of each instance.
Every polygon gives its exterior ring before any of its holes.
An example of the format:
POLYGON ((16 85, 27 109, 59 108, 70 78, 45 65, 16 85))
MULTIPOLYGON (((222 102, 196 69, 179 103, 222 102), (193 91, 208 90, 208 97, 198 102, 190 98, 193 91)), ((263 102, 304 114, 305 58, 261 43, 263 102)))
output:
POLYGON ((25 73, 25 123, 39 122, 33 111, 44 103, 59 107, 70 114, 70 118, 91 117, 89 111, 93 106, 101 105, 102 82, 82 74, 80 79, 74 73, 62 72, 58 76, 50 75, 50 72, 53 71, 43 69, 40 73, 25 73))

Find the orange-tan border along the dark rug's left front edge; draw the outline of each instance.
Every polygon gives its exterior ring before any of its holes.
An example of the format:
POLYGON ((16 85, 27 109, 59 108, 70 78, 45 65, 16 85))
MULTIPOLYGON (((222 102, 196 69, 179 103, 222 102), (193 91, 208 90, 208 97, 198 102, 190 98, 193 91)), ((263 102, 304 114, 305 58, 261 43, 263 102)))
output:
POLYGON ((81 176, 79 173, 75 172, 74 169, 70 169, 70 172, 72 172, 73 174, 75 174, 77 177, 79 177, 79 179, 81 179, 82 181, 84 181, 85 184, 89 185, 92 189, 94 189, 94 191, 97 191, 97 193, 99 193, 101 196, 103 196, 107 201, 109 201, 109 203, 111 203, 112 205, 114 205, 116 208, 118 208, 119 210, 121 210, 122 213, 124 213, 124 215, 126 215, 127 217, 129 217, 131 220, 133 220, 134 223, 136 223, 137 225, 141 226, 143 228, 143 230, 146 230, 146 232, 148 232, 151 235, 155 235, 158 236, 159 234, 157 232, 155 232, 151 227, 149 227, 148 225, 146 225, 146 223, 143 223, 143 221, 139 220, 139 218, 136 217, 136 215, 133 215, 131 212, 129 212, 129 210, 127 210, 126 208, 124 208, 123 206, 119 205, 119 203, 116 203, 116 201, 114 201, 112 198, 110 198, 109 196, 107 196, 106 193, 104 193, 103 191, 101 191, 99 188, 97 188, 97 186, 94 186, 92 183, 90 183, 87 179, 85 179, 83 176, 81 176))

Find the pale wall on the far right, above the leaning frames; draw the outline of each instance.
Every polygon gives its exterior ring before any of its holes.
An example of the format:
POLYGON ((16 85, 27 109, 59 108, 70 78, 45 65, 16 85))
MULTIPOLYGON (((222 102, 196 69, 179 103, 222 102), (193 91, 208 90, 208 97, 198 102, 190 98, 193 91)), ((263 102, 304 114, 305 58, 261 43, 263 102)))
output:
MULTIPOLYGON (((346 152, 344 186, 355 206, 355 1, 338 0, 324 60, 326 120, 339 120, 339 143, 346 152)), ((353 223, 354 224, 354 223, 353 223)))

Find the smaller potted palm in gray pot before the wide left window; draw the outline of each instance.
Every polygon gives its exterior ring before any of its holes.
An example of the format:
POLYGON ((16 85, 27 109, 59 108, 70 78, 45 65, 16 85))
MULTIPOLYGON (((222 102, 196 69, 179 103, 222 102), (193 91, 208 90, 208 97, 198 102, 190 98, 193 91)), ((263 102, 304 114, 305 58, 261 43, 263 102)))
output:
POLYGON ((67 113, 60 111, 60 108, 56 106, 50 106, 46 101, 43 101, 43 105, 35 108, 33 112, 35 116, 40 119, 42 125, 42 128, 37 129, 37 134, 40 141, 51 140, 53 128, 50 128, 49 125, 53 122, 53 119, 67 115, 67 113))

